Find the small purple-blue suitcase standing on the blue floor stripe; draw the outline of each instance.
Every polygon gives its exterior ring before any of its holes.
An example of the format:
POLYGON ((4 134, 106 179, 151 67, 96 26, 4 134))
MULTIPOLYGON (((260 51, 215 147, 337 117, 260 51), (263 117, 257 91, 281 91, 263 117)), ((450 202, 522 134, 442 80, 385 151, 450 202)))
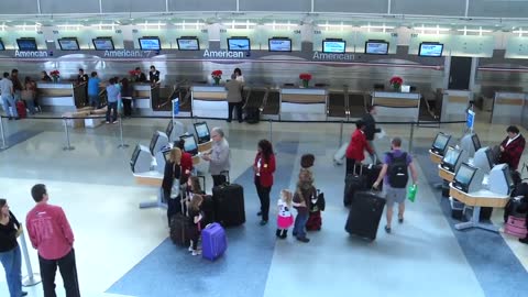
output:
POLYGON ((219 223, 208 224, 201 230, 201 255, 205 258, 215 261, 228 249, 226 231, 219 223))

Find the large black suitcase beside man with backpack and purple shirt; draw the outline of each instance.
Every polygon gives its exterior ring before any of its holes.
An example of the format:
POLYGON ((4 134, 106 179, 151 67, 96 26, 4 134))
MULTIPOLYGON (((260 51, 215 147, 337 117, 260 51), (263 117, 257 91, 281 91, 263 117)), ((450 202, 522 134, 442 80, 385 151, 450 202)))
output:
POLYGON ((349 218, 344 230, 350 234, 376 239, 377 228, 382 219, 385 199, 378 193, 358 191, 350 206, 349 218))

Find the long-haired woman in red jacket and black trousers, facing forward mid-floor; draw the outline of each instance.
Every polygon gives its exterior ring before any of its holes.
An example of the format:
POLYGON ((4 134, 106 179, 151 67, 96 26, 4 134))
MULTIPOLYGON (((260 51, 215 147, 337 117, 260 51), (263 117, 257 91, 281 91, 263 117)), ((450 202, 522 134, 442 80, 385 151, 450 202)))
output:
POLYGON ((273 173, 275 173, 275 155, 272 143, 267 140, 261 140, 256 150, 253 170, 256 194, 261 200, 261 211, 257 215, 262 216, 261 226, 264 226, 270 219, 270 193, 273 186, 273 173))

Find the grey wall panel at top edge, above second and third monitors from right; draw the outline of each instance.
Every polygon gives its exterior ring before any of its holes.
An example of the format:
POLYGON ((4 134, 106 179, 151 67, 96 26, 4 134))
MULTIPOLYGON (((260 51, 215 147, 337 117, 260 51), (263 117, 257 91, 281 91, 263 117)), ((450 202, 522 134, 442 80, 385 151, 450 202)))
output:
MULTIPOLYGON (((307 1, 309 2, 309 1, 307 1)), ((316 12, 387 13, 387 0, 314 0, 316 12)))

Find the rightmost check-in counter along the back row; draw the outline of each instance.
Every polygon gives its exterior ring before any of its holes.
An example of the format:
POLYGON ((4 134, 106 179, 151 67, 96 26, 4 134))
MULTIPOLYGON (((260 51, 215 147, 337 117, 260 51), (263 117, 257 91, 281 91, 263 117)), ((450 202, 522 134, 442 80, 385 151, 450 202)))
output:
POLYGON ((520 124, 526 94, 524 92, 495 92, 493 98, 492 123, 520 124))

